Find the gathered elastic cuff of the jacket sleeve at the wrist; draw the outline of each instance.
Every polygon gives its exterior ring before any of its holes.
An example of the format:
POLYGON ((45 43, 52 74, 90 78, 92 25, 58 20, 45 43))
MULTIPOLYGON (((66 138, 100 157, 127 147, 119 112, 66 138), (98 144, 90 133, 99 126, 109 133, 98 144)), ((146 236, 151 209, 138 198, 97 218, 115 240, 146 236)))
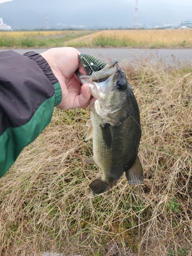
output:
POLYGON ((47 60, 42 57, 40 54, 36 52, 27 52, 23 54, 25 57, 30 58, 31 60, 34 60, 39 68, 44 72, 44 74, 47 76, 49 81, 52 83, 53 87, 55 88, 55 103, 54 106, 58 105, 61 102, 62 99, 62 91, 60 88, 60 83, 58 82, 58 79, 53 74, 47 60))

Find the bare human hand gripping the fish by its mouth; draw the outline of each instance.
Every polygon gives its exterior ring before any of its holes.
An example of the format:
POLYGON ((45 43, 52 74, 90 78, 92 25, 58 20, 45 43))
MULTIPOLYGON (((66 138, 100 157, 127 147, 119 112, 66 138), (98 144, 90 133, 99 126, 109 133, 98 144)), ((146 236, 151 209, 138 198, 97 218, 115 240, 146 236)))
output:
POLYGON ((60 83, 62 100, 56 107, 62 110, 87 108, 91 99, 88 83, 80 86, 75 75, 77 69, 86 74, 78 60, 79 53, 72 47, 52 48, 41 53, 60 83))

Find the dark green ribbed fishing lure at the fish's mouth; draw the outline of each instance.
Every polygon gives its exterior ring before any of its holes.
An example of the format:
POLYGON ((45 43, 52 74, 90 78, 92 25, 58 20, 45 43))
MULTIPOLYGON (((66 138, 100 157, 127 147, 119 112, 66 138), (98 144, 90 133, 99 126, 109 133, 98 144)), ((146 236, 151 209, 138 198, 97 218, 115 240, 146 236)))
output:
POLYGON ((78 58, 83 70, 86 71, 88 75, 103 69, 106 65, 101 59, 90 54, 81 53, 78 58))

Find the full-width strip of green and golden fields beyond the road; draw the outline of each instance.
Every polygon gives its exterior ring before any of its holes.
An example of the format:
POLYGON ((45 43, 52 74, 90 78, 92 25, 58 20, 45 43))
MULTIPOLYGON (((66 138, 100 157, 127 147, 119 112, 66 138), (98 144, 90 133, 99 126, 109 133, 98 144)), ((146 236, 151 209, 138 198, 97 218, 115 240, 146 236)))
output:
POLYGON ((0 32, 1 48, 52 47, 191 48, 192 30, 0 32))

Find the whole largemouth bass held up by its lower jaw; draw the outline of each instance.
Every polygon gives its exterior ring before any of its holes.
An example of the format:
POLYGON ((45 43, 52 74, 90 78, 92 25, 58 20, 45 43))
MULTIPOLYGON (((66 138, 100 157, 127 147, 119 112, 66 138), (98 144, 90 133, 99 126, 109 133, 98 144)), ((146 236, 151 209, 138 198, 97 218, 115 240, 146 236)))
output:
POLYGON ((101 194, 117 184, 125 173, 131 185, 143 182, 138 157, 141 138, 140 112, 133 90, 117 59, 104 68, 84 75, 76 71, 81 84, 88 83, 91 119, 86 140, 93 138, 93 156, 86 160, 102 170, 102 177, 89 186, 101 194))

